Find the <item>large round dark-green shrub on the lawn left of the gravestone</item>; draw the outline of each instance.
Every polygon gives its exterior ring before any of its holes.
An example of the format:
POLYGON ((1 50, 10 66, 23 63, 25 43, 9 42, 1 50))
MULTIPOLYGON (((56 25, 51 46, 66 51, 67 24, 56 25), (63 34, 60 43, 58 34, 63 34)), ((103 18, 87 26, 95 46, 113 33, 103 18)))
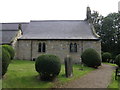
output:
POLYGON ((42 80, 53 80, 60 73, 60 59, 55 55, 41 55, 36 59, 35 69, 42 80))

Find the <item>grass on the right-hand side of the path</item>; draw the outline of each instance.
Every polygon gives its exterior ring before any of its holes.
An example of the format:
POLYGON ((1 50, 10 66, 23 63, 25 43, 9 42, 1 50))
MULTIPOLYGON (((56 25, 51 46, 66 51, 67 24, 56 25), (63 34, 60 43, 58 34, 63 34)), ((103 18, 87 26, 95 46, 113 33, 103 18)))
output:
MULTIPOLYGON (((112 66, 117 66, 116 64, 112 64, 112 63, 104 63, 104 64, 108 64, 108 65, 112 65, 112 66)), ((112 82, 109 84, 108 88, 120 88, 120 78, 119 80, 115 80, 115 70, 113 71, 112 74, 112 82)))

